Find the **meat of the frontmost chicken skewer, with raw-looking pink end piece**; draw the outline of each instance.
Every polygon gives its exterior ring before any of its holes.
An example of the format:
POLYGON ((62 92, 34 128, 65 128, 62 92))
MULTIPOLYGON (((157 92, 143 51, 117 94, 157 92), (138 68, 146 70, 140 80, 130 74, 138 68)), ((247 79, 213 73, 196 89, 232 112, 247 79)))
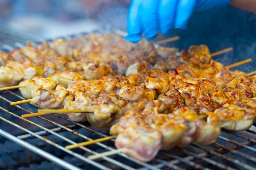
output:
POLYGON ((192 141, 210 144, 220 135, 218 124, 206 123, 193 108, 182 105, 174 113, 160 114, 158 107, 141 113, 128 110, 111 127, 110 134, 117 135, 117 148, 125 148, 125 153, 141 161, 150 161, 160 149, 184 147, 192 141))

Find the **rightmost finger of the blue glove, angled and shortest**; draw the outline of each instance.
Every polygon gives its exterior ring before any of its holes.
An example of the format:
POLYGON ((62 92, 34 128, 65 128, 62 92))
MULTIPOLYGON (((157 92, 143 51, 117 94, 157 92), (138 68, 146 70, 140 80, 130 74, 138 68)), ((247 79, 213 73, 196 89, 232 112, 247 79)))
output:
POLYGON ((196 0, 179 0, 176 10, 175 28, 187 28, 187 23, 195 7, 195 3, 196 0))

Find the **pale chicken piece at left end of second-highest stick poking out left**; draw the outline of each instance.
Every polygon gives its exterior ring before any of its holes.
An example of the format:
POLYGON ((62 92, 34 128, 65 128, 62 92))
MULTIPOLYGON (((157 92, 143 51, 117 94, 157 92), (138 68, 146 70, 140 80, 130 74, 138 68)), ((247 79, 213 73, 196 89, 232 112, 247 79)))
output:
POLYGON ((31 99, 31 104, 38 104, 45 109, 62 109, 67 101, 72 101, 74 95, 62 85, 57 85, 55 90, 40 89, 31 99))

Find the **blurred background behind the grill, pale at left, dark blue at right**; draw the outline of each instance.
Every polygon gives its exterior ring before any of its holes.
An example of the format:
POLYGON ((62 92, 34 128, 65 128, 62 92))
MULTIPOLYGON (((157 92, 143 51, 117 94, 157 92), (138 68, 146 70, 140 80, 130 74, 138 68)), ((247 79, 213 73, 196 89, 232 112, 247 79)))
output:
MULTIPOLYGON (((127 11, 131 0, 0 0, 0 47, 6 43, 41 40, 113 27, 126 31, 127 11)), ((185 30, 171 36, 181 39, 167 43, 180 49, 192 44, 206 44, 211 52, 233 47, 232 53, 215 59, 231 64, 255 58, 256 15, 231 6, 195 12, 185 30)), ((163 38, 163 37, 160 37, 163 38)), ((256 61, 241 66, 254 69, 256 61)))

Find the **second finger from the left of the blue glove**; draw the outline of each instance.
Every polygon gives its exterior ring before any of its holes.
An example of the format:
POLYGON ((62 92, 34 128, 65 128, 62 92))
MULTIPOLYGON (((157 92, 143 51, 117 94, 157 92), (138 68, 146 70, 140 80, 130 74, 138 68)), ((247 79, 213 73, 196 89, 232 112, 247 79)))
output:
POLYGON ((148 40, 155 39, 158 33, 157 22, 158 0, 143 0, 141 5, 141 25, 148 40))

